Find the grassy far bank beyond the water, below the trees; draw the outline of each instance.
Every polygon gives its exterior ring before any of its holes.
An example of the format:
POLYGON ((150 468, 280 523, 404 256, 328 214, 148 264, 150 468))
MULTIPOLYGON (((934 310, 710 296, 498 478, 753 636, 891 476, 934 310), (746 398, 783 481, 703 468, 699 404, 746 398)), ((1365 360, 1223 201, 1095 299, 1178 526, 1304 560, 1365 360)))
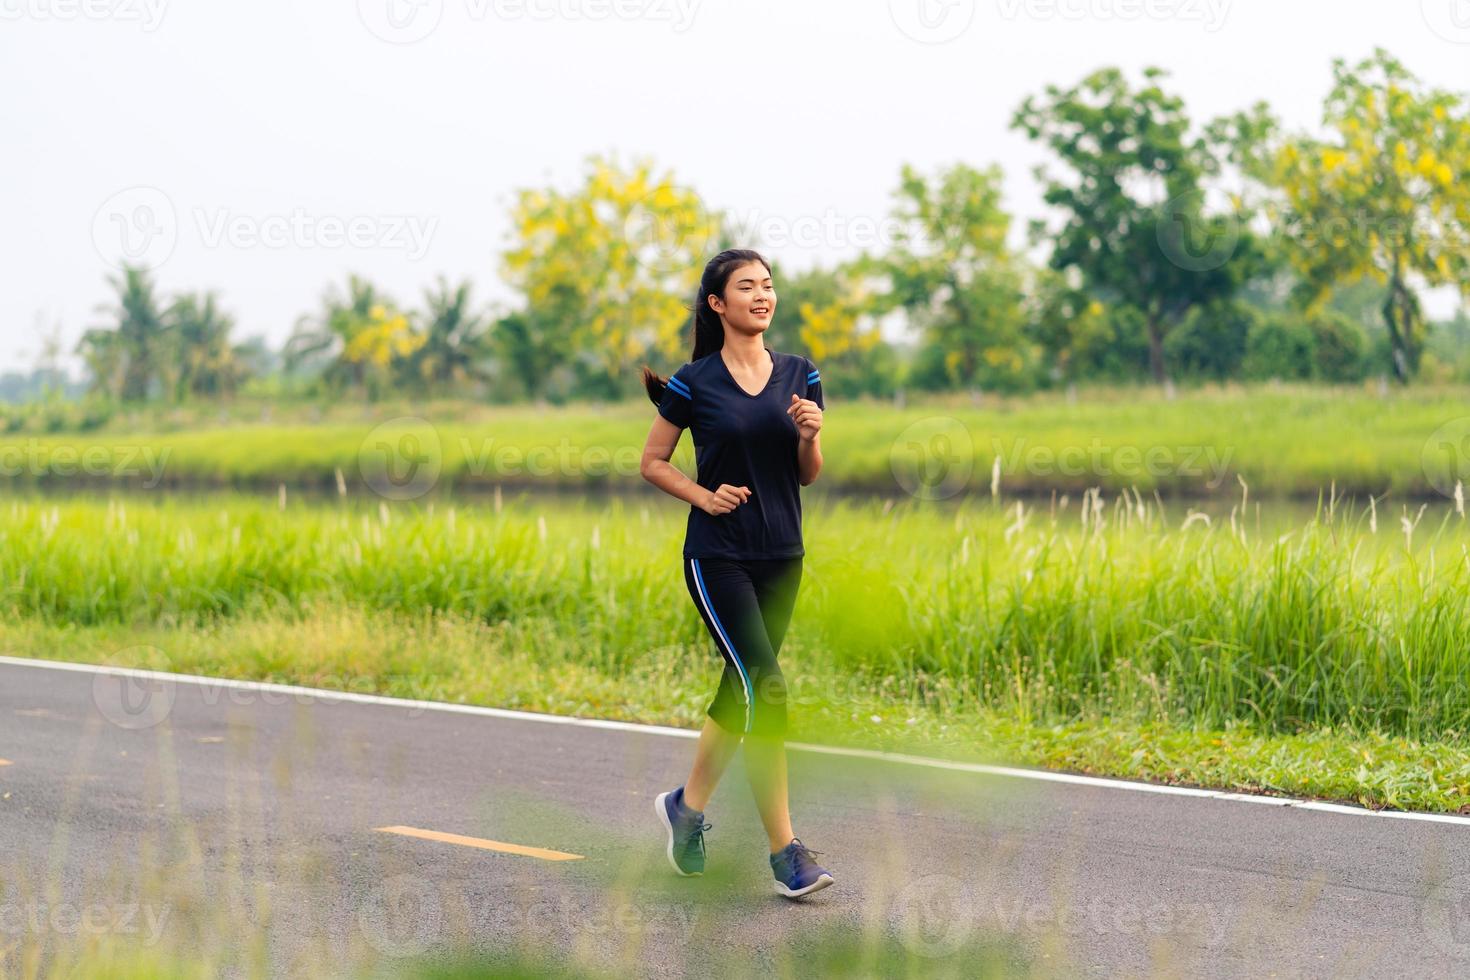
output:
MULTIPOLYGON (((1446 500, 1470 476, 1470 389, 1226 386, 1078 400, 928 398, 904 407, 826 392, 823 485, 925 500, 1007 492, 1446 500)), ((654 408, 469 403, 232 406, 119 416, 84 433, 0 435, 12 480, 144 488, 369 488, 401 500, 492 485, 638 486, 654 408), (379 428, 387 426, 387 428, 379 428)), ((676 461, 689 466, 688 438, 676 461)))

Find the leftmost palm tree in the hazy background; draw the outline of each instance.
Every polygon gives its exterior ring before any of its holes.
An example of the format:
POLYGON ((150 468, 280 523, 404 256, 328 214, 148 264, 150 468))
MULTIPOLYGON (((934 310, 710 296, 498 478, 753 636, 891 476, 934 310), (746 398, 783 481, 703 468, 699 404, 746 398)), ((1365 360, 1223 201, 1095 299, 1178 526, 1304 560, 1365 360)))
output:
POLYGON ((118 291, 118 303, 97 310, 112 322, 82 334, 76 353, 87 361, 94 388, 122 401, 144 401, 160 376, 168 325, 147 269, 123 266, 121 278, 107 281, 118 291))

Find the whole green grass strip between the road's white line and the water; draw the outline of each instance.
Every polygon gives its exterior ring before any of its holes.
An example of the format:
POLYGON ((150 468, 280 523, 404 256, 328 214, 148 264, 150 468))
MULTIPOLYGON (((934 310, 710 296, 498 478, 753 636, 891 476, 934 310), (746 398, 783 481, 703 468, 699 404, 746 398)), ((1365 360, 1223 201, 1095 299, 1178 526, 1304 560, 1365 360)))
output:
MULTIPOLYGON (((4 508, 12 654, 691 727, 719 671, 672 501, 4 508)), ((1208 522, 1144 497, 832 500, 806 533, 792 738, 1470 805, 1452 505, 1247 500, 1208 522)))

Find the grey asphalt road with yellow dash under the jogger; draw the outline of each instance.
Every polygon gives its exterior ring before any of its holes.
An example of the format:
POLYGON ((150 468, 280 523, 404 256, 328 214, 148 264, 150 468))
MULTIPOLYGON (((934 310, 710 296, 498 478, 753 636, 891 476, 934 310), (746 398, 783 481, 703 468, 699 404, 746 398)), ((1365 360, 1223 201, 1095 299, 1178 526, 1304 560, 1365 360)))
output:
POLYGON ((663 862, 651 801, 692 751, 0 663, 0 976, 101 942, 216 976, 522 946, 659 977, 1470 976, 1470 826, 792 751, 797 833, 836 877, 792 904, 738 764, 709 874, 663 862))

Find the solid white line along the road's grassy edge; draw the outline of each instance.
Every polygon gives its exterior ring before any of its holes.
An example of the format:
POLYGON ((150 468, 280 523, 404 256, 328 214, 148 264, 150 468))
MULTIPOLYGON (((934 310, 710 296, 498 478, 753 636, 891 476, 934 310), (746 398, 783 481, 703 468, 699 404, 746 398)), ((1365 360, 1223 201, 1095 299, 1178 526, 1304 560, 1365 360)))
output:
MULTIPOLYGON (((100 664, 74 664, 60 660, 31 660, 26 657, 0 655, 0 666, 43 667, 46 670, 69 670, 88 674, 112 674, 118 677, 137 677, 140 680, 172 680, 175 683, 191 683, 200 686, 231 688, 235 691, 262 691, 272 693, 310 695, 322 701, 347 701, 354 704, 376 704, 391 708, 412 708, 416 711, 444 711, 451 714, 473 714, 487 718, 509 718, 513 721, 541 721, 545 724, 570 724, 584 729, 606 729, 613 732, 634 732, 639 735, 667 735, 681 739, 697 739, 698 732, 688 729, 673 729, 664 724, 639 724, 637 721, 606 721, 603 718, 573 718, 562 714, 541 714, 538 711, 513 711, 510 708, 487 708, 478 704, 453 704, 448 701, 419 701, 413 698, 388 698, 376 693, 356 693, 351 691, 325 691, 322 688, 301 688, 297 685, 272 683, 266 680, 237 680, 232 677, 201 677, 197 674, 175 674, 163 670, 138 670, 135 667, 107 667, 100 664)), ((1141 793, 1158 793, 1166 796, 1200 796, 1208 799, 1223 799, 1233 802, 1273 804, 1277 807, 1295 807, 1298 810, 1316 810, 1322 813, 1348 814, 1354 817, 1395 817, 1398 820, 1423 820, 1427 823, 1452 823, 1470 826, 1470 817, 1458 814, 1430 814, 1407 810, 1369 810, 1366 807, 1347 807, 1319 799, 1298 799, 1294 796, 1266 796, 1255 793, 1239 793, 1222 789, 1200 789, 1198 786, 1166 786, 1163 783, 1141 783, 1126 779, 1107 779, 1102 776, 1082 776, 1079 773, 1054 773, 1044 768, 1016 768, 1011 765, 988 765, 985 763, 954 763, 942 758, 925 755, 904 755, 901 752, 882 752, 878 749, 857 749, 839 745, 810 745, 807 742, 786 742, 786 748, 795 752, 814 752, 820 755, 841 755, 845 758, 866 758, 882 763, 898 763, 903 765, 920 765, 925 768, 944 768, 957 773, 979 773, 982 776, 1011 776, 1016 779, 1032 779, 1048 783, 1067 783, 1072 786, 1091 786, 1095 789, 1130 789, 1141 793)))

